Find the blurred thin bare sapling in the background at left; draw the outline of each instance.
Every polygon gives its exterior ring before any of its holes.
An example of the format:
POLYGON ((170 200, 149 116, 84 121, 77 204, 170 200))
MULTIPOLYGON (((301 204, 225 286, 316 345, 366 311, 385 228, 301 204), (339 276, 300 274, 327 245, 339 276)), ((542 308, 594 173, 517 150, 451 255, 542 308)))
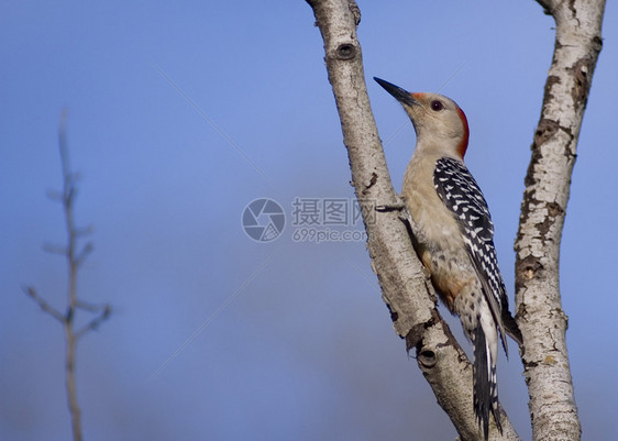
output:
POLYGON ((66 354, 65 354, 65 376, 68 408, 70 412, 73 439, 74 441, 81 441, 81 412, 77 403, 77 387, 75 383, 75 357, 76 346, 80 338, 86 335, 99 327, 104 320, 110 317, 111 307, 108 304, 90 304, 80 300, 77 296, 77 273, 84 264, 86 257, 92 252, 92 243, 86 242, 85 245, 79 245, 79 240, 90 234, 91 229, 80 229, 75 224, 75 200, 77 197, 77 180, 78 175, 70 170, 68 161, 68 147, 66 139, 66 110, 62 112, 59 123, 59 150, 60 150, 60 165, 63 170, 63 190, 62 192, 49 192, 49 198, 59 201, 63 206, 65 224, 67 231, 66 246, 46 245, 44 249, 51 253, 59 254, 66 258, 68 266, 68 289, 67 289, 67 304, 66 310, 63 313, 47 302, 33 286, 24 288, 25 294, 30 296, 41 309, 56 319, 64 328, 66 340, 66 354), (95 317, 81 327, 76 327, 75 318, 78 310, 84 310, 93 313, 95 317))

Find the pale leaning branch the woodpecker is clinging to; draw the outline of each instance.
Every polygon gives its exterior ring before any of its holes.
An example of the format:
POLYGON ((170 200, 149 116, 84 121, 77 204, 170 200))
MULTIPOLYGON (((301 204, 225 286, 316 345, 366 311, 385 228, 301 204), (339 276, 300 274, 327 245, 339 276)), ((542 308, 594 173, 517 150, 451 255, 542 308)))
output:
MULTIPOLYGON (((329 81, 363 211, 367 247, 395 331, 406 339, 408 350, 416 349, 418 365, 461 440, 482 439, 473 410, 472 366, 438 312, 431 283, 413 252, 406 225, 397 212, 374 211, 374 205, 396 205, 399 198, 390 183, 365 87, 356 37, 358 7, 352 0, 308 3, 324 41, 329 81)), ((503 428, 504 437, 493 428, 489 439, 519 439, 504 412, 503 428)))

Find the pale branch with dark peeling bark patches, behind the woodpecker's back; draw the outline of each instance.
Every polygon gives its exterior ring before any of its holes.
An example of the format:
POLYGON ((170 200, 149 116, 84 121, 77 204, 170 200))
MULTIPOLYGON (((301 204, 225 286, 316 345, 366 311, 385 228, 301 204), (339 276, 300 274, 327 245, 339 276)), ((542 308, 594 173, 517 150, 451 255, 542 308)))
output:
POLYGON ((577 139, 602 48, 605 0, 538 2, 555 19, 556 36, 515 242, 517 319, 533 439, 578 440, 559 256, 577 139))

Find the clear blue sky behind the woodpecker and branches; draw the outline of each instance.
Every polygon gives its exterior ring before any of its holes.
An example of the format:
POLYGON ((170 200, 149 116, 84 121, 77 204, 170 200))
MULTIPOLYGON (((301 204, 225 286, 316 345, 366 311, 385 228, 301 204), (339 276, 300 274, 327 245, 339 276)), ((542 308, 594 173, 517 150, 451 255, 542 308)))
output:
MULTIPOLYGON (((440 90, 465 110, 466 162, 492 208, 512 299, 552 20, 533 1, 360 7, 367 78, 440 90)), ((561 256, 585 440, 618 438, 617 21, 608 2, 561 256)), ((114 308, 78 349, 87 440, 455 437, 393 332, 364 242, 293 241, 296 197, 353 197, 304 1, 4 1, 0 57, 2 440, 70 437, 62 328, 22 293, 33 285, 56 307, 65 301, 64 262, 42 251, 65 241, 60 207, 46 198, 60 186, 64 107, 81 175, 76 217, 95 228, 79 291, 114 308), (272 243, 241 225, 260 197, 287 214, 272 243)), ((367 87, 399 188, 413 130, 390 96, 367 87)), ((529 439, 521 371, 517 356, 501 360, 500 396, 529 439)))

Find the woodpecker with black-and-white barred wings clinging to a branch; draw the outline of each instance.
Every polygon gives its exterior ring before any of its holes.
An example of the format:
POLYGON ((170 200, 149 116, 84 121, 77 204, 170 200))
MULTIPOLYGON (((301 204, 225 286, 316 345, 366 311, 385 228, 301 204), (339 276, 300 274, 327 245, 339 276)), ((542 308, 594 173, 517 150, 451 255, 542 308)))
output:
POLYGON ((468 126, 464 112, 437 93, 408 91, 374 78, 404 106, 417 145, 404 176, 402 198, 412 243, 451 312, 474 346, 474 411, 489 432, 489 412, 501 432, 496 362, 506 333, 521 344, 494 247, 494 224, 478 185, 463 163, 468 126))

